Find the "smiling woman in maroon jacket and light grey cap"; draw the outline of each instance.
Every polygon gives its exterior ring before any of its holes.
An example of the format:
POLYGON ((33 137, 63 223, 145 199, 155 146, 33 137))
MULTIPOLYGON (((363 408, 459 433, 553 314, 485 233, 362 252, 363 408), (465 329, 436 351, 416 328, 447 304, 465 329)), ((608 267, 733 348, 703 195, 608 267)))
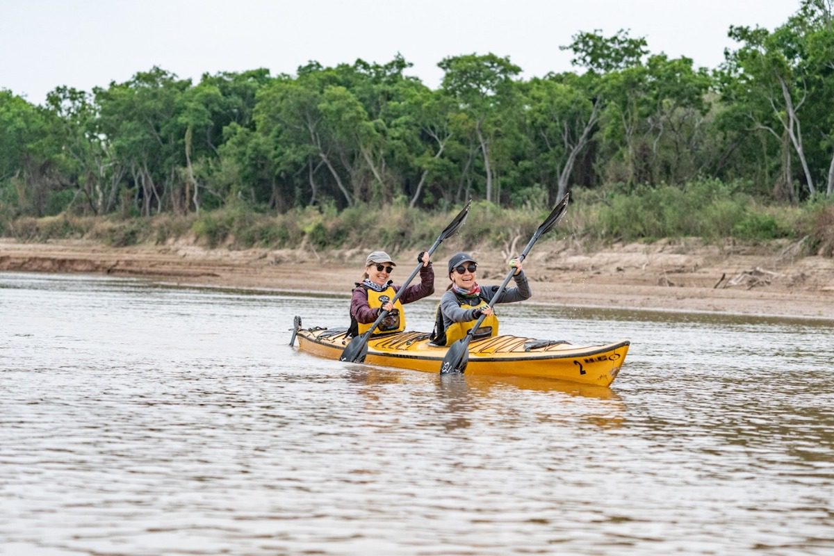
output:
POLYGON ((435 293, 435 271, 431 268, 429 253, 421 252, 417 260, 423 263, 420 268, 420 284, 405 288, 396 303, 391 303, 401 288, 394 286, 394 281, 389 279, 397 265, 384 251, 374 251, 368 255, 362 282, 356 283, 353 298, 350 299, 351 336, 367 332, 382 311, 388 311, 388 314, 379 322, 374 336, 402 332, 405 329, 403 305, 435 293))

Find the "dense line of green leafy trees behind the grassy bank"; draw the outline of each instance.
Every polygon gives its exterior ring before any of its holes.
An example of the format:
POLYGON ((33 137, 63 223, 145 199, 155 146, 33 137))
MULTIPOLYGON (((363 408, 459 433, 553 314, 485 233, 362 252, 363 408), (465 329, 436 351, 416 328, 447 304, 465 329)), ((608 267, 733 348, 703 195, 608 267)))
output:
POLYGON ((465 198, 546 204, 570 188, 740 183, 834 197, 832 0, 774 31, 733 27, 720 68, 578 33, 575 72, 525 80, 495 54, 445 58, 437 90, 389 63, 204 75, 162 68, 42 106, 0 90, 0 216, 185 214, 465 198))

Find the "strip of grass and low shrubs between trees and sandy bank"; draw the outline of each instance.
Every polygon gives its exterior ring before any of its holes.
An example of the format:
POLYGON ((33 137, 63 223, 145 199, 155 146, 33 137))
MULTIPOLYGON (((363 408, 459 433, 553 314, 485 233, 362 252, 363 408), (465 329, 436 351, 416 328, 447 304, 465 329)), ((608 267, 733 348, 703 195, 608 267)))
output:
MULTIPOLYGON (((763 204, 735 184, 689 183, 685 188, 646 186, 579 189, 555 237, 586 241, 651 242, 698 237, 705 243, 733 238, 742 243, 802 240, 806 254, 834 255, 834 204, 817 198, 800 206, 763 204)), ((399 251, 430 245, 454 212, 430 213, 404 203, 337 211, 332 205, 297 208, 284 214, 259 213, 244 204, 188 216, 152 218, 3 218, 0 235, 22 241, 84 238, 123 247, 141 243, 190 241, 210 248, 379 248, 399 251)), ((457 242, 465 248, 493 245, 518 251, 549 212, 525 203, 500 208, 473 203, 457 242)))

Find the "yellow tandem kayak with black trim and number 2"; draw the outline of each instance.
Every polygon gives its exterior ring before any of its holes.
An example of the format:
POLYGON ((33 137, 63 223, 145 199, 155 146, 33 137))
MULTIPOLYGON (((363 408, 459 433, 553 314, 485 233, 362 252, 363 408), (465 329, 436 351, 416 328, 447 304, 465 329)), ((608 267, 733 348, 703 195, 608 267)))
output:
MULTIPOLYGON (((299 347, 339 359, 350 339, 344 328, 298 328, 299 347)), ((495 336, 473 340, 466 374, 540 377, 609 386, 625 362, 630 342, 575 346, 564 341, 495 336)), ((439 373, 448 347, 429 343, 429 334, 405 331, 368 341, 364 363, 439 373)))

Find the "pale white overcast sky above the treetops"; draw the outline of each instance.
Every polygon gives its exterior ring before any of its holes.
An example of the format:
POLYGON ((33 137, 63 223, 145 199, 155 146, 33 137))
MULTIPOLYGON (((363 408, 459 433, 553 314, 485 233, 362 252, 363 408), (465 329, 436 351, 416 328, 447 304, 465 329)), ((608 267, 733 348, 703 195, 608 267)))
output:
POLYGON ((159 66, 203 73, 386 63, 437 88, 448 56, 509 56, 524 78, 570 70, 560 46, 620 28, 651 53, 716 68, 731 25, 773 29, 799 0, 0 0, 0 88, 43 103, 59 85, 92 90, 159 66))

